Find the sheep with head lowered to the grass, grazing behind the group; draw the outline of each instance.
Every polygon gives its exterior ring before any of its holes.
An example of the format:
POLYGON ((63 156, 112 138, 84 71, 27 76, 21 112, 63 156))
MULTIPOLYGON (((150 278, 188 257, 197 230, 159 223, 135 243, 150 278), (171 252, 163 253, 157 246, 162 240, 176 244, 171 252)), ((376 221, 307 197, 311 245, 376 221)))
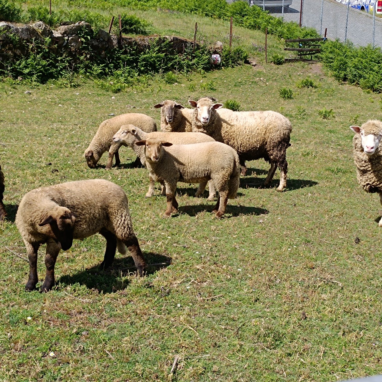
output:
MULTIPOLYGON (((109 157, 107 160, 106 170, 109 170, 113 164, 113 156, 115 155, 115 165, 119 166, 121 161, 119 158, 118 150, 122 143, 113 143, 112 136, 117 133, 121 125, 126 123, 133 123, 134 125, 140 127, 143 131, 150 133, 151 131, 157 131, 157 124, 155 121, 146 114, 141 113, 127 113, 121 114, 117 117, 110 118, 103 121, 95 133, 94 138, 90 142, 89 147, 85 150, 86 163, 90 168, 95 168, 95 165, 100 160, 102 154, 105 151, 109 152, 109 157)), ((136 159, 137 163, 139 159, 136 159)))

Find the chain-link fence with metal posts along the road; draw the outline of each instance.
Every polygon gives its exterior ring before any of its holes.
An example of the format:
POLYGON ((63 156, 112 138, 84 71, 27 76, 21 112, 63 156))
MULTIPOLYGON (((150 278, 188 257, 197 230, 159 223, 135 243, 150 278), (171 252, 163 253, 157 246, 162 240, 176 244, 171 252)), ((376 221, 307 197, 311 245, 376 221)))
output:
POLYGON ((248 0, 285 21, 313 27, 330 39, 382 47, 382 0, 248 0), (354 7, 358 7, 356 9, 354 7))

